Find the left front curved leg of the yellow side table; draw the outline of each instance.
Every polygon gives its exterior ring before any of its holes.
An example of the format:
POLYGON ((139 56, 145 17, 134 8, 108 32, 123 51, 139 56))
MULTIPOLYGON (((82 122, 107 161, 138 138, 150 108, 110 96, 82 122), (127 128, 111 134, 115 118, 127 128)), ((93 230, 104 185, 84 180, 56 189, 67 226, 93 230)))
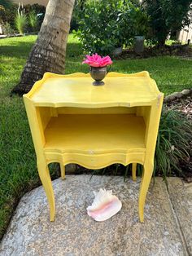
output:
POLYGON ((55 197, 54 190, 50 179, 50 171, 46 162, 37 162, 37 169, 43 188, 45 189, 46 196, 50 205, 50 221, 55 218, 55 197))

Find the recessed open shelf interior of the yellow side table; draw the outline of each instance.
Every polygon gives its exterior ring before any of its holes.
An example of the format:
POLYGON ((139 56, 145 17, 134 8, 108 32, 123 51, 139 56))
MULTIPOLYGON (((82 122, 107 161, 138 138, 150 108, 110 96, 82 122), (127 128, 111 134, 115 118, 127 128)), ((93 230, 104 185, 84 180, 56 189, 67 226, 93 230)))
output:
POLYGON ((135 114, 59 114, 45 129, 46 152, 145 151, 146 125, 135 114))

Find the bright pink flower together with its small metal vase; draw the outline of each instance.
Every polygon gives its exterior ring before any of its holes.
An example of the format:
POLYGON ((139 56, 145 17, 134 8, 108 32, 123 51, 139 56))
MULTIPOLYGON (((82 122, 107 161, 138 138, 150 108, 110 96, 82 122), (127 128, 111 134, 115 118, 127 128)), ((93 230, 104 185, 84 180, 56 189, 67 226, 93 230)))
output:
POLYGON ((107 66, 112 64, 111 58, 109 56, 102 57, 95 53, 93 55, 86 55, 86 59, 82 64, 90 66, 90 75, 95 80, 93 85, 103 86, 104 82, 102 80, 107 75, 107 66))

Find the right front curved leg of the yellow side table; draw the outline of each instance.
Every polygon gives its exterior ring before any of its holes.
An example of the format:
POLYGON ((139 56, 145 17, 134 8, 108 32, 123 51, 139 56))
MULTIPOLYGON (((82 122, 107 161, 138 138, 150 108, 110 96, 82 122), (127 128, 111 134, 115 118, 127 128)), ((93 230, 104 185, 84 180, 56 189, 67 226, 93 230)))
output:
POLYGON ((144 168, 142 172, 142 182, 140 185, 139 200, 138 200, 138 212, 139 212, 139 219, 141 223, 143 223, 144 221, 144 206, 146 201, 146 193, 148 191, 148 188, 151 182, 152 174, 153 174, 153 164, 147 161, 144 164, 144 168))

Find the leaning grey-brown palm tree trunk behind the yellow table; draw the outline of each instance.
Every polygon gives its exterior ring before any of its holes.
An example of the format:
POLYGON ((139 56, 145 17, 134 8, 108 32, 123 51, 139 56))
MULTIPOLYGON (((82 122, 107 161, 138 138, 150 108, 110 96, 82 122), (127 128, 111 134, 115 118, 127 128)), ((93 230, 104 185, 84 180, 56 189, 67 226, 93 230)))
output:
POLYGON ((38 33, 37 42, 29 54, 20 83, 12 93, 23 95, 41 79, 45 72, 63 73, 68 32, 75 0, 50 0, 38 33))

